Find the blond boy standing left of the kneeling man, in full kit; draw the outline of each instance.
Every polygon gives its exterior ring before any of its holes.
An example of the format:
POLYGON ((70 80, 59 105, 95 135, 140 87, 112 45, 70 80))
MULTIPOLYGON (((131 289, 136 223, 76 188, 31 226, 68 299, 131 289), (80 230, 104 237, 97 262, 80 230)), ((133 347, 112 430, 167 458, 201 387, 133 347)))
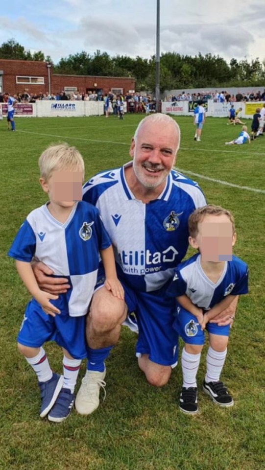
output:
POLYGON ((111 240, 98 210, 82 199, 84 162, 75 147, 48 147, 39 159, 40 184, 49 201, 30 212, 8 255, 33 299, 25 310, 18 348, 35 371, 41 391, 41 418, 65 420, 72 408, 81 360, 86 357, 85 316, 94 293, 99 253, 106 287, 123 298, 117 279, 111 240), (66 278, 70 289, 52 295, 35 280, 33 258, 48 266, 48 274, 66 278), (43 349, 46 341, 62 347, 63 376, 52 372, 43 349))

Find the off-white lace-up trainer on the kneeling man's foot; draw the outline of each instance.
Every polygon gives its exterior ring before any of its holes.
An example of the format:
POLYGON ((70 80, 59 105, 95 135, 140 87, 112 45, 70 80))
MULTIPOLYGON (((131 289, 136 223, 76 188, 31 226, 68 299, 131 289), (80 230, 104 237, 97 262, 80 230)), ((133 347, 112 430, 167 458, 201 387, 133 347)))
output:
POLYGON ((90 415, 98 408, 100 388, 104 390, 104 398, 106 398, 106 369, 104 372, 87 371, 82 379, 81 386, 77 392, 74 406, 80 415, 90 415))

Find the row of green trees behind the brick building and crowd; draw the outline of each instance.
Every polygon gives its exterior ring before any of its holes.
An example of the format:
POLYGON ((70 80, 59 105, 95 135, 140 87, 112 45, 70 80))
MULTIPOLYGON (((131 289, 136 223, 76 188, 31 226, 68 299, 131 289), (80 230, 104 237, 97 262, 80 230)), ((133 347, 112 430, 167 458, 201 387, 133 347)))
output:
MULTIPOLYGON (((1 59, 46 60, 52 63, 49 56, 42 51, 25 50, 14 39, 8 40, 0 47, 1 59)), ((155 91, 155 56, 143 59, 140 56, 131 58, 127 55, 110 57, 107 52, 97 50, 94 55, 86 51, 70 54, 53 64, 54 73, 99 76, 124 76, 136 79, 136 91, 155 91)), ((231 59, 230 63, 218 55, 200 52, 194 57, 177 52, 162 53, 160 60, 160 90, 205 88, 205 87, 242 87, 265 85, 265 61, 258 58, 246 58, 240 62, 231 59)))

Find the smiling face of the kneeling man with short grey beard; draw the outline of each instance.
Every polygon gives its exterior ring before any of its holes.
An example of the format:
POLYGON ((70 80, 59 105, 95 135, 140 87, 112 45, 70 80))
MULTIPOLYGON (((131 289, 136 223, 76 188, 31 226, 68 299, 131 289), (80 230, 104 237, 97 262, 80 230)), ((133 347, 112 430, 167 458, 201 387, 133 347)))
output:
POLYGON ((173 124, 145 122, 132 140, 130 156, 138 181, 145 188, 162 185, 175 163, 179 136, 173 124))

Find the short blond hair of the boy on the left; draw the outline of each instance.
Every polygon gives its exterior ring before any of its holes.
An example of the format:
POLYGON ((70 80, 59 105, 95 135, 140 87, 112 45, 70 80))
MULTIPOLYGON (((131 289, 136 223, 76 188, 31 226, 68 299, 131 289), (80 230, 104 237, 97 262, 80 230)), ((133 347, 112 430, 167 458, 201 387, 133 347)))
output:
POLYGON ((68 143, 51 144, 39 158, 41 178, 48 181, 53 171, 81 171, 84 178, 85 165, 80 152, 68 143))

